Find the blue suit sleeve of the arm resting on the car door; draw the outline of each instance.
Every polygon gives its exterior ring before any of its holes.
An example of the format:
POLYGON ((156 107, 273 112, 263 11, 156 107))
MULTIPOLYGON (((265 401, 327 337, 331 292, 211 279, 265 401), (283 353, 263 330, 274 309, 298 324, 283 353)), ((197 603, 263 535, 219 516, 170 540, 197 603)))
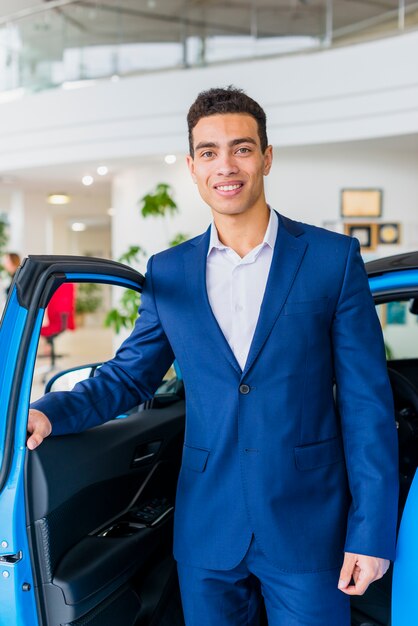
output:
POLYGON ((115 357, 72 391, 51 392, 31 405, 52 422, 52 434, 92 428, 152 398, 174 360, 158 316, 152 257, 148 262, 139 317, 115 357))

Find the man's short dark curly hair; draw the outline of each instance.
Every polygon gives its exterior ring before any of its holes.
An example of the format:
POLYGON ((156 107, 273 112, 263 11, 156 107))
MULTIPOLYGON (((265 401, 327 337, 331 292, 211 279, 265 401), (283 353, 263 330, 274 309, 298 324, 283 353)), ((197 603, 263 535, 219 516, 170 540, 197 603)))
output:
POLYGON ((258 136, 262 152, 268 146, 266 130, 266 114, 261 106, 242 89, 230 85, 226 89, 214 87, 207 91, 201 91, 193 102, 187 114, 187 126, 189 129, 190 156, 194 157, 193 128, 202 117, 217 115, 219 113, 247 113, 257 122, 258 136))

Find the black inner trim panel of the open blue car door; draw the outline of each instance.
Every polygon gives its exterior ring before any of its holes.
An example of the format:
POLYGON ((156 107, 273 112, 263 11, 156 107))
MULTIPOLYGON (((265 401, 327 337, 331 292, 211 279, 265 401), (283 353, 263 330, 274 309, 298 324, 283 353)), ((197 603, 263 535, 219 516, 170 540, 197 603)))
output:
POLYGON ((129 519, 129 510, 150 498, 174 502, 183 429, 180 401, 52 438, 28 456, 28 527, 47 623, 74 620, 98 606, 171 535, 171 517, 127 536, 99 533, 115 518, 129 519), (135 466, 138 449, 150 442, 159 444, 158 452, 135 466))

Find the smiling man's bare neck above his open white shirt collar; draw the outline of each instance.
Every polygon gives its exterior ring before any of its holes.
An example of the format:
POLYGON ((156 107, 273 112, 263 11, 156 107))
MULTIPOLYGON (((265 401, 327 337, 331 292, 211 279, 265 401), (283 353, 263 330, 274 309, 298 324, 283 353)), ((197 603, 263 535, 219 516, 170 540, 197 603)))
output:
POLYGON ((214 215, 219 240, 241 258, 262 243, 269 219, 270 210, 267 205, 254 214, 248 211, 239 215, 214 215))

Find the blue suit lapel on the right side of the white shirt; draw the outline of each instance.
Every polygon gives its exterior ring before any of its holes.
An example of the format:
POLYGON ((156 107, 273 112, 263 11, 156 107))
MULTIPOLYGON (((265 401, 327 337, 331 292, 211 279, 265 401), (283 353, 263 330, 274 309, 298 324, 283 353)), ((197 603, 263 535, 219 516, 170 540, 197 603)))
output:
POLYGON ((299 224, 279 215, 279 230, 266 290, 243 376, 259 355, 295 280, 307 247, 306 242, 298 239, 302 233, 299 224))

